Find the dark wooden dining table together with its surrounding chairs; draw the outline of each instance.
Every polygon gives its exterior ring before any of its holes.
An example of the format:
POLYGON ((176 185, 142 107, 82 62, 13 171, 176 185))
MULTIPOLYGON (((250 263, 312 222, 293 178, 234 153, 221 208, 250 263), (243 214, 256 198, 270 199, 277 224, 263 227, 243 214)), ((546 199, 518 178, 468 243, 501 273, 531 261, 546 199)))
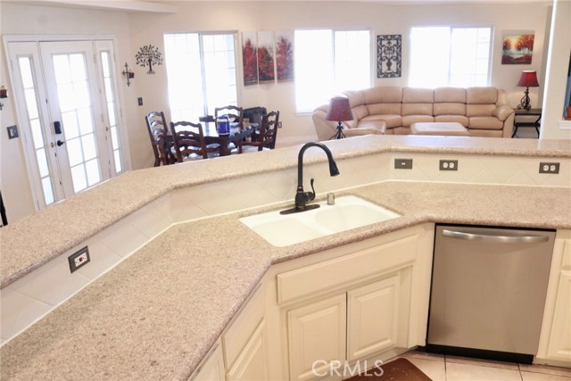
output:
POLYGON ((215 107, 213 115, 198 120, 167 121, 165 112, 145 115, 153 150, 153 166, 193 162, 274 149, 279 111, 233 104, 215 107))

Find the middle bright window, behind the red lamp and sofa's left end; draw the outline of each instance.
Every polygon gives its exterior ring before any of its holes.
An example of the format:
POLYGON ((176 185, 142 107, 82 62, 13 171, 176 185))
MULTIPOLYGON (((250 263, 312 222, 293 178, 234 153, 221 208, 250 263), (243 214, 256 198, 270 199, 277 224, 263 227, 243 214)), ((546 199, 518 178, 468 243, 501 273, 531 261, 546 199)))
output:
POLYGON ((371 86, 370 30, 295 30, 295 104, 312 112, 335 93, 371 86))

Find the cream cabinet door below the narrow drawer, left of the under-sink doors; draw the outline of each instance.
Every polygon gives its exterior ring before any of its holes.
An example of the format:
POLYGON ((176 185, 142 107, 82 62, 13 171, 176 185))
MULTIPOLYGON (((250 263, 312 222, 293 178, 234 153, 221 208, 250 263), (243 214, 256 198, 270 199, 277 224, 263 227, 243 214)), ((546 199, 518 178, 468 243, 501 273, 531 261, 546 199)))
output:
POLYGON ((236 362, 228 370, 228 381, 264 381, 268 379, 265 322, 261 320, 236 362))

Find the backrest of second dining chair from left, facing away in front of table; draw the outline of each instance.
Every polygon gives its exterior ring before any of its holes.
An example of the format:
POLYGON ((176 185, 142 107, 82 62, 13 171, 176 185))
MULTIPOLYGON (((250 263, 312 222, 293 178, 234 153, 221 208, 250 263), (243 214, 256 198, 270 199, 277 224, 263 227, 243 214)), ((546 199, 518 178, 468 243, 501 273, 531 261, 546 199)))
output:
POLYGON ((204 143, 203 125, 190 121, 170 122, 170 131, 175 143, 177 162, 183 162, 183 156, 193 153, 206 159, 206 145, 204 143))

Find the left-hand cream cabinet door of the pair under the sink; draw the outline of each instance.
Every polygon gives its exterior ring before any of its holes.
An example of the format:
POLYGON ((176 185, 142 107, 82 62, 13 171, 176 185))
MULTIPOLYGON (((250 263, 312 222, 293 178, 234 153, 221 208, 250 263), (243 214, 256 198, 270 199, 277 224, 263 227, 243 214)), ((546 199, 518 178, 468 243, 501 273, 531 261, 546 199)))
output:
POLYGON ((332 361, 343 363, 346 308, 343 293, 287 312, 291 380, 316 379, 332 361))

